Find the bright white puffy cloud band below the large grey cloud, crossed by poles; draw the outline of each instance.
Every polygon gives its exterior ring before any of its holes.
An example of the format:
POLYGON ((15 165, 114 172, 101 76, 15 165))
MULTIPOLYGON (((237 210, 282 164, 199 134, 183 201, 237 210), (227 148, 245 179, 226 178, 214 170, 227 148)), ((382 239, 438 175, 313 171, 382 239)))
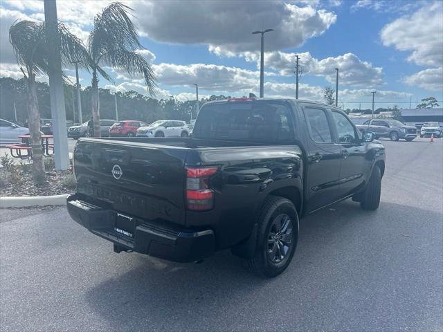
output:
MULTIPOLYGON (((260 66, 260 58, 257 53, 246 52, 242 55, 246 61, 257 62, 257 68, 260 66)), ((299 56, 298 63, 302 68, 302 75, 318 75, 325 77, 328 82, 334 83, 335 68, 338 68, 340 84, 350 86, 379 86, 383 84, 383 68, 374 67, 353 53, 318 60, 312 57, 309 52, 285 53, 278 50, 265 53, 264 64, 266 68, 279 71, 280 75, 293 76, 295 75, 296 55, 299 56)))

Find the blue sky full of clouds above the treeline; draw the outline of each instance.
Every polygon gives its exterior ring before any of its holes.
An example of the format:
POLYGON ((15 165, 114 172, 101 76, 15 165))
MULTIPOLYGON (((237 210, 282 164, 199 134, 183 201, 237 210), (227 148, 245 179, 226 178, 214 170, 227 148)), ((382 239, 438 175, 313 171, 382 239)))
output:
MULTIPOLYGON (((85 42, 93 17, 107 0, 57 0, 58 17, 85 42)), ((158 98, 177 95, 258 95, 260 35, 265 35, 267 97, 295 97, 295 55, 300 56, 300 98, 321 100, 340 70, 339 102, 345 107, 407 108, 430 95, 443 100, 443 1, 150 1, 122 0, 134 21, 159 84, 158 98), (383 102, 383 104, 381 103, 383 102)), ((44 19, 43 1, 0 1, 0 75, 20 78, 8 42, 19 18, 44 19)), ((141 77, 108 68, 107 89, 146 93, 141 77)), ((66 68, 74 75, 72 68, 66 68)), ((91 77, 82 72, 81 84, 91 77)), ((45 80, 44 77, 41 80, 45 80)), ((442 104, 442 103, 440 103, 442 104)))

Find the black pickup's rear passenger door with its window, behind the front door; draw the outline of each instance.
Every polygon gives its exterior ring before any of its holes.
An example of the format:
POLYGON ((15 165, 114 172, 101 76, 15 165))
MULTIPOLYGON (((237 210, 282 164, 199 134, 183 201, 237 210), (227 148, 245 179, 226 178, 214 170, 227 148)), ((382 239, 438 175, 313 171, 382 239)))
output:
POLYGON ((341 145, 334 142, 330 112, 322 107, 302 105, 307 123, 307 212, 340 198, 341 145))

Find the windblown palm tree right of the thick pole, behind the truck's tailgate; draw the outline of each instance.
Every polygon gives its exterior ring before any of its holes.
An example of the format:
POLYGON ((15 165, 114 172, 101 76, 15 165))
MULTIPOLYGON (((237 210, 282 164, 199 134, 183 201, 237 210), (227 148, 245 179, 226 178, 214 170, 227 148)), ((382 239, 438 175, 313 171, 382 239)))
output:
POLYGON ((92 115, 94 136, 100 137, 100 101, 98 99, 98 74, 113 82, 100 65, 118 68, 129 75, 141 74, 147 91, 155 89, 155 77, 150 64, 136 50, 143 48, 128 13, 132 10, 114 2, 94 18, 94 28, 89 34, 88 50, 92 70, 92 115))

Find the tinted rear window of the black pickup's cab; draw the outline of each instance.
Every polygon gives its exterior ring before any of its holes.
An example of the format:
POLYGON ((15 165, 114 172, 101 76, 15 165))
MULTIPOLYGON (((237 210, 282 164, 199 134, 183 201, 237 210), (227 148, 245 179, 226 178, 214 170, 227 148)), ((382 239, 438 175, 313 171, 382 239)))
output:
POLYGON ((224 102, 201 108, 192 135, 201 139, 289 141, 293 125, 282 102, 224 102))

